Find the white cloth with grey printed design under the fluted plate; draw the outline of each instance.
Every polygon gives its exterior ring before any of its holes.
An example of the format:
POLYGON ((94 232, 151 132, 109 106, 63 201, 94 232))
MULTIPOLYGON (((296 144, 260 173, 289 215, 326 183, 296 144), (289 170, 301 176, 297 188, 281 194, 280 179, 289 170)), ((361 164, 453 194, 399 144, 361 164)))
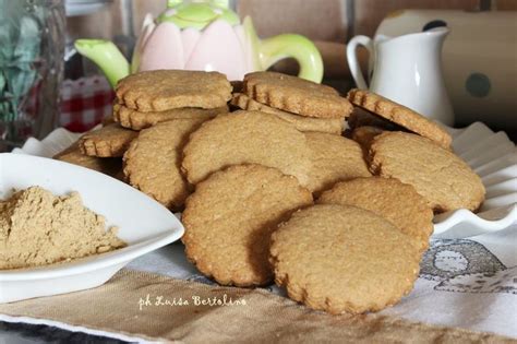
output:
MULTIPOLYGON (((517 339, 516 242, 517 222, 468 239, 432 239, 414 289, 381 315, 517 339)), ((128 268, 217 285, 187 260, 181 244, 142 256, 128 268)), ((265 289, 285 295, 275 285, 265 289)))

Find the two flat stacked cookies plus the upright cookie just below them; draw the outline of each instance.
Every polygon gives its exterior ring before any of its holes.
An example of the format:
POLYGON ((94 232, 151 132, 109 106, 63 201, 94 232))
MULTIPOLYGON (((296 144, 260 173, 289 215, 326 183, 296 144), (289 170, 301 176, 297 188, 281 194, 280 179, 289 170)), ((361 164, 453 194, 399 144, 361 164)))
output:
POLYGON ((228 111, 231 85, 218 72, 161 70, 133 74, 116 88, 113 118, 141 130, 125 152, 128 182, 171 210, 181 210, 192 186, 180 170, 189 135, 228 111))

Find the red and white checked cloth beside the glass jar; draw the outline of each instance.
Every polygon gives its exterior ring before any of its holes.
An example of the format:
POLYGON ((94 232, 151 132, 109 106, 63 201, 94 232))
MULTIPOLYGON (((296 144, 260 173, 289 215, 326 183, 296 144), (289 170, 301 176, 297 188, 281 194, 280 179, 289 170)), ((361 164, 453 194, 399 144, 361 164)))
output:
POLYGON ((84 132, 111 114, 115 93, 106 78, 95 75, 65 80, 61 96, 59 127, 84 132))

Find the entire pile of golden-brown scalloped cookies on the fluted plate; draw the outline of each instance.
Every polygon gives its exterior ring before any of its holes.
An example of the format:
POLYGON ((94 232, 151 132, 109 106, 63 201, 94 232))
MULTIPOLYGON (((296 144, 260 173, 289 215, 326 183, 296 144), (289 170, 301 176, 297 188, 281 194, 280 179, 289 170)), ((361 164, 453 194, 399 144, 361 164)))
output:
POLYGON ((123 155, 130 185, 183 210, 187 257, 220 284, 274 280, 315 309, 381 310, 411 290, 433 211, 484 199, 448 133, 399 104, 272 72, 239 91, 214 72, 130 75, 116 123, 71 149, 123 155))

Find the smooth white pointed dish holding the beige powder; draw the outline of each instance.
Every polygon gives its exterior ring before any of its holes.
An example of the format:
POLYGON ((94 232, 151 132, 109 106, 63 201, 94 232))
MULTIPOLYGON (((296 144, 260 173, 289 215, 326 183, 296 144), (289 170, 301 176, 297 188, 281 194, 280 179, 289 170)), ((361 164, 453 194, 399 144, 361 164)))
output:
MULTIPOLYGON (((41 143, 39 143, 41 145, 41 143)), ((79 191, 128 247, 34 269, 0 271, 0 303, 96 287, 131 260, 178 240, 183 226, 166 207, 132 187, 84 167, 23 154, 0 154, 0 199, 40 186, 55 194, 79 191)))

